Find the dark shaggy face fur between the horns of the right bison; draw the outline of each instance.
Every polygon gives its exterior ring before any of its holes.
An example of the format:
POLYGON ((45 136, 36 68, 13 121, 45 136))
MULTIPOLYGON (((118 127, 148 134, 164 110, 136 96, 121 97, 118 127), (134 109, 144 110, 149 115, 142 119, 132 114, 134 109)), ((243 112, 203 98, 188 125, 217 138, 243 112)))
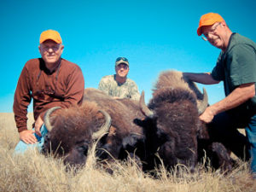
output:
POLYGON ((160 158, 167 167, 181 163, 193 168, 197 161, 196 134, 200 125, 195 95, 182 87, 160 86, 160 83, 168 85, 161 78, 156 85, 160 89, 154 90, 148 104, 155 114, 160 158))

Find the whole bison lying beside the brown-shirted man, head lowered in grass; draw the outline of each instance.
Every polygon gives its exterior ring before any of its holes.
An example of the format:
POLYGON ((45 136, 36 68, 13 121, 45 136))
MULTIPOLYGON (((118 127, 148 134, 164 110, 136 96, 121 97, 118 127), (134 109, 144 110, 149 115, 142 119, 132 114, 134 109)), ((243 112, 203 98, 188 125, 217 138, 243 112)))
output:
POLYGON ((100 159, 123 160, 127 154, 144 159, 143 127, 133 123, 134 119, 144 118, 139 102, 114 99, 101 90, 88 88, 81 107, 55 109, 49 109, 44 118, 50 130, 44 153, 52 151, 65 156, 65 163, 84 165, 91 143, 106 133, 96 146, 100 159))

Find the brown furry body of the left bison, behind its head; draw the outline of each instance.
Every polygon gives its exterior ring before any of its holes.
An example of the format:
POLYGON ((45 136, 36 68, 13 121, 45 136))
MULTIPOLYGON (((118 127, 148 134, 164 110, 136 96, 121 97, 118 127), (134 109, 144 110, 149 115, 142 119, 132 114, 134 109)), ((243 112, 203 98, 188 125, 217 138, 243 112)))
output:
MULTIPOLYGON (((100 108, 108 112, 112 119, 111 134, 106 137, 102 148, 108 150, 116 159, 123 159, 125 150, 133 152, 138 143, 143 143, 143 128, 134 124, 134 119, 143 119, 137 101, 131 99, 113 99, 102 91, 93 88, 84 90, 84 101, 93 101, 100 108)), ((138 149, 140 150, 140 149, 138 149)), ((102 154, 107 155, 106 153, 102 154)))

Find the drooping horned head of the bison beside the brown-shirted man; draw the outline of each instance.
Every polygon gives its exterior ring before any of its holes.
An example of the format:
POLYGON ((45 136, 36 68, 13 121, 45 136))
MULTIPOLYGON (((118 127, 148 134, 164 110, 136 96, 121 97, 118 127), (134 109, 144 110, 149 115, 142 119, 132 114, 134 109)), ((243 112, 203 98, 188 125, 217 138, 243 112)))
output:
POLYGON ((96 103, 85 102, 81 107, 50 108, 45 113, 44 124, 49 133, 43 153, 63 156, 64 163, 77 166, 84 165, 91 144, 108 132, 111 118, 96 103))

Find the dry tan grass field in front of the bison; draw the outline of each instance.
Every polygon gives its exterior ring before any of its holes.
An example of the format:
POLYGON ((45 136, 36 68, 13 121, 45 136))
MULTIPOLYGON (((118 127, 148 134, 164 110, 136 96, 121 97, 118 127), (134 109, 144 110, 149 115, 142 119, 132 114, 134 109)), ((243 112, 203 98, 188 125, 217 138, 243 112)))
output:
MULTIPOLYGON (((32 126, 32 114, 28 115, 32 126)), ((44 157, 37 151, 14 155, 18 143, 13 113, 0 113, 0 191, 168 191, 168 192, 255 192, 256 182, 247 171, 247 163, 224 176, 199 166, 196 173, 175 170, 170 173, 164 168, 155 170, 158 177, 143 173, 132 163, 116 162, 113 174, 104 172, 96 164, 95 150, 90 150, 89 160, 76 174, 66 172, 61 160, 44 157)), ((185 168, 183 168, 185 170, 185 168)))

